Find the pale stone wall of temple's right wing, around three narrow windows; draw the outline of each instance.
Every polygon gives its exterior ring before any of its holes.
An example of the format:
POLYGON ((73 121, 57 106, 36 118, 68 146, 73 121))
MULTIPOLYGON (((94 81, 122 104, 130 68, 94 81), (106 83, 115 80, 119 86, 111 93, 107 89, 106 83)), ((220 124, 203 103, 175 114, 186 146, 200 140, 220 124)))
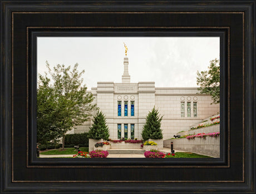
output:
POLYGON ((210 105, 211 97, 198 94, 197 88, 155 88, 155 106, 163 116, 161 129, 164 139, 171 138, 180 131, 190 130, 205 118, 219 112, 219 104, 210 105), (185 102, 185 116, 181 117, 180 102, 185 102), (191 117, 187 115, 187 102, 191 102, 191 117), (197 116, 193 115, 193 102, 197 102, 197 116))

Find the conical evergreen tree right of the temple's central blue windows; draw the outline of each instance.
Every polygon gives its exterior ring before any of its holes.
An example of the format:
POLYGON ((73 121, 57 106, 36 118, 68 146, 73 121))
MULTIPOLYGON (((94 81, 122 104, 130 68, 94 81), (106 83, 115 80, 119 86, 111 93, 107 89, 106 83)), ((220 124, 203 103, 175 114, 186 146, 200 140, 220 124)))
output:
POLYGON ((143 131, 141 133, 144 140, 151 139, 163 139, 163 133, 161 130, 161 121, 163 116, 159 116, 158 110, 155 107, 146 117, 146 123, 143 126, 143 131))

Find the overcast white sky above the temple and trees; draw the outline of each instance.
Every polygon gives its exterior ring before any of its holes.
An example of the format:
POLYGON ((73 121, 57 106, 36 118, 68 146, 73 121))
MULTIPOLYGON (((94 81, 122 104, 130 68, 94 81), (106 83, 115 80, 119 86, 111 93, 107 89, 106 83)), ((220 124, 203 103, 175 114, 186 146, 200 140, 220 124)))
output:
POLYGON ((205 71, 219 59, 219 37, 38 37, 37 71, 46 60, 85 69, 83 82, 122 82, 125 47, 128 47, 131 83, 154 81, 156 87, 198 87, 196 71, 205 71))

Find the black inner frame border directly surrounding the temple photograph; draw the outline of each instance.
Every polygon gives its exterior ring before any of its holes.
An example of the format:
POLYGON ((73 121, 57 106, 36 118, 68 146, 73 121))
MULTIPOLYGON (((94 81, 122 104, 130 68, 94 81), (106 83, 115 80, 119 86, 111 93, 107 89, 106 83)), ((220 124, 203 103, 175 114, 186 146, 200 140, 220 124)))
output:
POLYGON ((225 64, 224 66, 221 65, 220 77, 222 81, 223 78, 228 79, 225 80, 225 83, 229 83, 229 27, 27 27, 27 167, 85 167, 83 165, 87 165, 86 167, 229 167, 229 92, 224 92, 227 89, 229 91, 229 85, 227 88, 224 84, 221 84, 220 115, 221 118, 223 116, 228 118, 228 122, 225 122, 224 119, 220 122, 221 134, 227 135, 226 137, 224 135, 220 136, 222 137, 220 139, 220 158, 208 158, 208 160, 205 160, 205 158, 196 158, 199 160, 186 158, 185 161, 175 158, 175 161, 166 160, 166 162, 159 162, 154 158, 150 158, 153 160, 147 161, 145 161, 145 158, 106 158, 107 160, 104 161, 102 161, 102 158, 90 158, 89 160, 91 161, 87 162, 81 161, 79 158, 65 158, 66 161, 63 161, 62 158, 36 158, 35 154, 33 154, 36 153, 36 133, 32 128, 36 128, 36 123, 35 118, 33 119, 31 115, 35 116, 36 113, 36 98, 33 97, 35 96, 36 88, 36 37, 134 37, 135 35, 140 37, 219 36, 220 64, 225 64), (29 83, 31 83, 31 86, 29 86, 29 83), (226 129, 225 132, 223 128, 226 129), (28 139, 31 141, 28 141, 28 139), (129 166, 126 166, 127 164, 129 166))

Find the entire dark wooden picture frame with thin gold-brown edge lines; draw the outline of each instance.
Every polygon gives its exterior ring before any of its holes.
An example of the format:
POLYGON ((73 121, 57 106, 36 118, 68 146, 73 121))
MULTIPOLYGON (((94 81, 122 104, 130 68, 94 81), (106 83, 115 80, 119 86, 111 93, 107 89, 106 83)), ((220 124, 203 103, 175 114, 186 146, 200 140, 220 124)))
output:
POLYGON ((2 193, 255 193, 255 1, 2 1, 1 11, 2 193), (220 158, 36 157, 37 36, 209 34, 221 39, 220 158))

